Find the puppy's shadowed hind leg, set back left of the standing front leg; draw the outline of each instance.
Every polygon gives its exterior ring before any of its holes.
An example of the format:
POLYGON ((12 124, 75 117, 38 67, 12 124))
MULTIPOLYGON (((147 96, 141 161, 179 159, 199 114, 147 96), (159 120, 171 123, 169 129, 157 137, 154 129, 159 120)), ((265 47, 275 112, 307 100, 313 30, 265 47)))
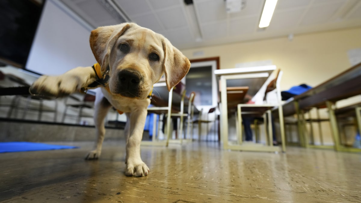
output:
POLYGON ((105 135, 104 118, 108 113, 109 108, 112 107, 112 105, 103 96, 100 90, 96 92, 94 105, 94 124, 97 140, 95 143, 95 149, 90 151, 85 157, 87 160, 98 159, 100 157, 101 146, 103 144, 105 135))

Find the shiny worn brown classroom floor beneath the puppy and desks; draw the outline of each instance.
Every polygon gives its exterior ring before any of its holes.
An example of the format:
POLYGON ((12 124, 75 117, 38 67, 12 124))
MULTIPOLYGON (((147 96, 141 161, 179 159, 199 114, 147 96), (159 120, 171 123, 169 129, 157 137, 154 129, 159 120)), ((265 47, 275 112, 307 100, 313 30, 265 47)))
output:
POLYGON ((124 175, 125 142, 105 142, 96 161, 83 159, 92 142, 60 144, 81 148, 0 154, 0 202, 361 202, 361 154, 142 146, 151 171, 136 178, 124 175))

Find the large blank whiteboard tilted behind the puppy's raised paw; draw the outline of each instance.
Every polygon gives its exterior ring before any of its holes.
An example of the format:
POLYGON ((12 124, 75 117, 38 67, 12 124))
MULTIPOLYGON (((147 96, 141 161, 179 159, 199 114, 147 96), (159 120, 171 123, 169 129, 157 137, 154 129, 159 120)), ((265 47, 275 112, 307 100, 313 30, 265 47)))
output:
POLYGON ((91 28, 61 7, 56 0, 45 3, 26 69, 58 75, 78 66, 96 63, 89 45, 91 28))

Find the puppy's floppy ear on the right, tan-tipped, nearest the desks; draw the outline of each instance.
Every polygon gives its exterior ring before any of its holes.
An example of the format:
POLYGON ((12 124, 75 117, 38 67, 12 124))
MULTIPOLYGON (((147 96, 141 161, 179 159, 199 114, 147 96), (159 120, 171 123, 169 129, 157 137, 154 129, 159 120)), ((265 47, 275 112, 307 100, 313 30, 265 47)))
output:
POLYGON ((186 76, 191 62, 183 55, 181 51, 173 47, 168 39, 162 40, 162 46, 164 51, 163 69, 165 73, 165 82, 170 91, 175 85, 177 85, 181 79, 186 76))

